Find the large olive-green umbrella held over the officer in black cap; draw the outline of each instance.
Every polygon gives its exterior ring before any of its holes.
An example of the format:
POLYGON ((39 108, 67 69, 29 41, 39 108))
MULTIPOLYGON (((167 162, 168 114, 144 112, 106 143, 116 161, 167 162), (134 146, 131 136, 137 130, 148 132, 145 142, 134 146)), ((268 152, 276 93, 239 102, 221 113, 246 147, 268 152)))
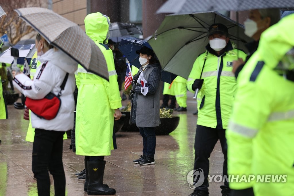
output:
POLYGON ((208 28, 215 23, 227 26, 233 47, 247 50, 245 43, 252 39, 243 26, 218 12, 168 15, 148 41, 163 70, 187 79, 198 55, 206 51, 208 28))

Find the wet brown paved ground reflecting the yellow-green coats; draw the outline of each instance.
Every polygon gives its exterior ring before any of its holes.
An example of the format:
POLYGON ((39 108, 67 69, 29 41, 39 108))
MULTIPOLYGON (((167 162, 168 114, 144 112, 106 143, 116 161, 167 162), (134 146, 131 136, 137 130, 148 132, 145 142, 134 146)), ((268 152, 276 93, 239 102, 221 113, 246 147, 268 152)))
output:
MULTIPOLYGON (((178 127, 169 135, 156 136, 155 165, 141 166, 133 160, 142 154, 139 132, 116 133, 118 149, 105 157, 104 184, 116 189, 116 195, 189 195, 193 192, 187 174, 193 170, 194 138, 197 116, 196 101, 188 93, 188 111, 174 112, 180 116, 178 127)), ((128 100, 123 101, 126 105, 128 100)), ((29 121, 23 110, 8 106, 9 119, 0 120, 0 196, 37 195, 36 180, 31 171, 32 143, 26 142, 29 121)), ((64 140, 63 163, 67 195, 87 195, 83 180, 74 175, 84 168, 84 157, 69 150, 70 139, 64 140)), ((210 157, 210 174, 222 174, 223 154, 220 143, 210 157)), ((209 184, 210 195, 221 195, 221 184, 209 184)), ((51 195, 54 195, 51 176, 51 195)))

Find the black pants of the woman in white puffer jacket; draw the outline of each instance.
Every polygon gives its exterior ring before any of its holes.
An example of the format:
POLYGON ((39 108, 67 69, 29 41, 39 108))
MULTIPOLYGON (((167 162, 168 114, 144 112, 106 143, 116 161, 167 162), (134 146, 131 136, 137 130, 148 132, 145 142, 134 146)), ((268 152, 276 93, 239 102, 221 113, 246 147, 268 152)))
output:
POLYGON ((49 173, 53 175, 55 195, 65 195, 62 163, 64 131, 35 129, 32 170, 37 179, 38 195, 50 195, 49 173))

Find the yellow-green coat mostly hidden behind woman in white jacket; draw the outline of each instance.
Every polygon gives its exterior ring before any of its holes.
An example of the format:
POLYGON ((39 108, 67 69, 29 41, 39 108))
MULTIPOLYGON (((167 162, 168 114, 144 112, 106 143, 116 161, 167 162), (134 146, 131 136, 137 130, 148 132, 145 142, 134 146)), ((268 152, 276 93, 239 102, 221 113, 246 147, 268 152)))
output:
MULTIPOLYGON (((35 54, 33 55, 32 59, 31 59, 31 68, 30 68, 31 79, 34 78, 34 75, 35 75, 37 68, 39 67, 40 64, 41 63, 37 59, 37 52, 35 52, 35 54)), ((29 114, 31 116, 31 110, 29 110, 29 114)), ((35 128, 32 127, 31 118, 30 118, 29 128, 28 128, 28 131, 26 132, 26 141, 34 142, 34 137, 35 137, 35 128)), ((67 139, 66 133, 64 134, 63 139, 67 139)))

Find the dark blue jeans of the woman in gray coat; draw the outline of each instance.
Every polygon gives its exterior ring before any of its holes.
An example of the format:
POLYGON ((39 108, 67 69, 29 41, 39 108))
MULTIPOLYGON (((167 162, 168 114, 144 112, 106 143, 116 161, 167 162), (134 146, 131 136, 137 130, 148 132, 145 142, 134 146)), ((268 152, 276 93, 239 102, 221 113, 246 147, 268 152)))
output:
POLYGON ((143 137, 143 155, 154 158, 156 137, 154 127, 139 127, 143 137))

